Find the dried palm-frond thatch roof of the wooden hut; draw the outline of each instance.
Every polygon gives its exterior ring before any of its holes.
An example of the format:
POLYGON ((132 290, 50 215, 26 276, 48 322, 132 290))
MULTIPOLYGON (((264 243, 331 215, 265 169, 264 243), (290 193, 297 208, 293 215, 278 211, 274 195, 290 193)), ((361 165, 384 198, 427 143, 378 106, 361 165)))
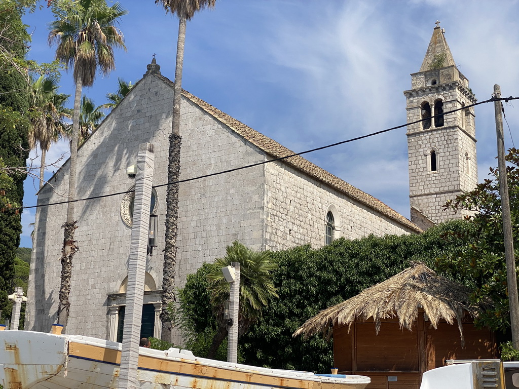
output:
POLYGON ((412 263, 410 268, 390 279, 364 289, 360 294, 319 312, 294 332, 293 336, 310 337, 323 332, 331 336, 334 325, 348 325, 359 317, 373 317, 375 329, 380 331, 381 319, 397 316, 400 328, 412 329, 423 310, 431 326, 438 327, 444 319, 450 325, 458 323, 461 344, 464 345, 463 314, 475 316, 476 307, 469 302, 470 289, 436 274, 424 263, 412 263))

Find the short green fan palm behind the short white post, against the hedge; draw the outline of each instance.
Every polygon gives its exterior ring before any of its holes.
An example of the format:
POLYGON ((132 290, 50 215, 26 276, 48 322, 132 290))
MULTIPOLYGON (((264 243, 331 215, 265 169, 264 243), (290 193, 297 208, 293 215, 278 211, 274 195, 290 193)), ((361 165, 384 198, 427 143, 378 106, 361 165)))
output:
POLYGON ((211 305, 216 315, 218 329, 208 351, 208 358, 214 358, 220 343, 227 335, 224 322, 225 302, 229 299, 230 284, 225 281, 221 268, 240 262, 240 309, 238 319, 238 336, 245 334, 250 326, 262 316, 268 299, 279 297, 277 288, 272 282, 272 271, 278 265, 266 252, 256 252, 240 242, 233 242, 225 248, 226 255, 216 258, 214 272, 208 274, 211 291, 211 305))

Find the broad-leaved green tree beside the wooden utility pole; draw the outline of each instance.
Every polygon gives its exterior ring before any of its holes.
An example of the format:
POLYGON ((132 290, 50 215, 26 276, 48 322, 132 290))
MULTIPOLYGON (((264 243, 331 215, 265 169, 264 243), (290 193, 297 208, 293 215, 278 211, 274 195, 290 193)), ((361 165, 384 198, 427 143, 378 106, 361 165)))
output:
MULTIPOLYGON (((512 236, 517 263, 519 254, 519 151, 509 150, 507 177, 512 218, 512 236)), ((463 245, 453 255, 444 256, 438 267, 451 277, 460 277, 473 290, 475 302, 490 299, 493 304, 480 312, 477 324, 494 330, 506 331, 510 328, 510 310, 507 291, 507 268, 504 259, 504 238, 499 197, 499 170, 490 168, 489 176, 483 183, 468 193, 449 201, 445 207, 455 212, 474 212, 468 218, 471 229, 462 237, 463 245)))

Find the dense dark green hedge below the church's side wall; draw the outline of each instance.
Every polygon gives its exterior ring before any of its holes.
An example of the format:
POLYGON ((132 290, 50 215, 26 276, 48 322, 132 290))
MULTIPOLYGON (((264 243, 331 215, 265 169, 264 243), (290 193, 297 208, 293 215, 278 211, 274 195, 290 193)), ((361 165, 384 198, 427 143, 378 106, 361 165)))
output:
MULTIPOLYGON (((292 338, 308 318, 384 281, 422 261, 434 268, 435 258, 455 252, 470 226, 453 221, 433 227, 420 235, 386 235, 356 240, 338 239, 331 245, 312 249, 309 245, 272 252, 279 269, 274 282, 279 299, 272 298, 263 317, 239 343, 244 362, 256 366, 327 372, 333 365, 332 343, 322 336, 292 338), (456 231, 459 239, 446 231, 456 231)), ((195 333, 213 324, 204 265, 188 277, 181 293, 184 312, 195 333), (188 297, 188 298, 186 298, 188 297)))

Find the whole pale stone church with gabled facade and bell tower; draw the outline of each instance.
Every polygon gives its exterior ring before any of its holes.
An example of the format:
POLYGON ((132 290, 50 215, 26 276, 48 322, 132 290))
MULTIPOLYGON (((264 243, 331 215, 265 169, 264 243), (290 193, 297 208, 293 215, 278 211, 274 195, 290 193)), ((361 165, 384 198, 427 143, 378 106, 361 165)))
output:
MULTIPOLYGON (((438 115, 475 100, 440 27, 405 95, 408 122, 436 115, 408 126, 412 221, 302 157, 190 180, 180 184, 176 285, 182 287, 202 263, 225 255, 225 246, 235 240, 261 251, 307 243, 319 247, 339 237, 420 233, 452 217, 442 214, 440 205, 476 184, 474 115, 471 109, 438 115)), ((126 169, 135 163, 139 145, 149 142, 155 146, 158 186, 151 213, 158 215, 161 239, 147 257, 142 334, 160 337, 166 214, 166 187, 160 185, 167 182, 172 99, 173 84, 153 60, 78 150, 78 198, 98 198, 76 203, 79 252, 70 334, 121 339, 133 204, 126 192, 134 186, 126 169), (120 194, 101 197, 111 193, 120 194)), ((187 91, 181 136, 181 179, 293 154, 187 91)), ((66 204, 45 205, 63 201, 68 181, 65 162, 38 195, 26 316, 30 330, 49 331, 56 322, 66 204)))

